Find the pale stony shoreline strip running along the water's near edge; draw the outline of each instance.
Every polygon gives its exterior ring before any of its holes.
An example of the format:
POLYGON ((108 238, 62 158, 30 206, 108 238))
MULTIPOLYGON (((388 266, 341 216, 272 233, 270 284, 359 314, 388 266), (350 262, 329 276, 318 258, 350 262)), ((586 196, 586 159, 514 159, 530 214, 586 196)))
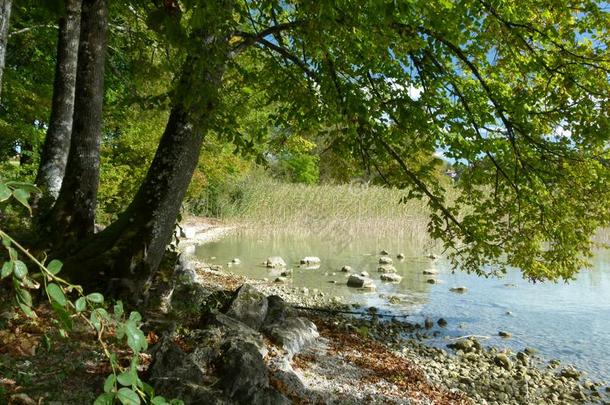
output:
MULTIPOLYGON (((181 248, 187 248, 185 253, 189 255, 189 260, 193 260, 194 246, 218 240, 237 228, 237 225, 227 226, 202 218, 190 218, 190 221, 185 221, 184 226, 190 229, 185 234, 190 233, 195 236, 187 238, 184 243, 181 241, 180 244, 181 248)), ((279 295, 287 303, 297 307, 327 308, 331 312, 351 308, 341 300, 326 297, 320 292, 307 291, 304 294, 301 289, 288 285, 252 280, 232 274, 230 268, 225 271, 220 266, 208 266, 197 260, 194 262, 201 275, 197 282, 202 285, 209 286, 210 279, 213 280, 212 284, 215 287, 225 289, 235 289, 247 283, 266 296, 279 295)), ((604 385, 607 382, 585 380, 582 378, 582 372, 572 367, 562 367, 558 362, 547 363, 531 349, 515 353, 510 350, 501 351, 493 346, 484 348, 476 338, 459 339, 454 342, 452 349, 439 349, 413 337, 419 331, 425 330, 422 325, 396 320, 385 321, 375 313, 364 311, 360 317, 316 311, 299 312, 302 316, 314 320, 314 323, 326 332, 325 338, 329 335, 348 340, 357 338, 371 344, 382 345, 391 356, 396 356, 397 359, 402 359, 420 370, 431 387, 443 392, 464 395, 471 403, 610 404, 610 388, 604 385)), ((315 371, 324 367, 339 366, 338 369, 341 369, 346 367, 346 364, 329 365, 326 364, 329 362, 328 359, 313 356, 311 353, 306 353, 304 358, 309 360, 302 362, 308 364, 309 372, 300 373, 299 376, 305 385, 316 386, 326 382, 328 389, 332 391, 344 392, 349 389, 349 384, 342 383, 339 378, 335 382, 329 382, 321 378, 319 370, 317 374, 315 371)), ((345 359, 337 361, 344 362, 345 359)), ((330 360, 330 363, 332 362, 333 360, 330 360)), ((358 374, 355 371, 354 373, 354 375, 358 374)), ((387 385, 388 381, 385 383, 387 385)), ((390 383, 385 388, 392 390, 391 385, 390 383)), ((367 389, 359 386, 361 399, 374 396, 377 388, 367 389)), ((403 403, 400 398, 395 399, 394 403, 403 403)), ((448 403, 469 402, 460 400, 448 403)))

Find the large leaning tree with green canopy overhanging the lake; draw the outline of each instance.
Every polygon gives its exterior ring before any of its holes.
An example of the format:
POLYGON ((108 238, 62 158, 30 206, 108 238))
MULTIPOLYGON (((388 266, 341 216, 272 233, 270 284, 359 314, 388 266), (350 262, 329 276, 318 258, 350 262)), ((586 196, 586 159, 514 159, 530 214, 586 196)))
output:
POLYGON ((222 108, 245 86, 264 94, 263 105, 286 102, 276 127, 325 131, 332 136, 322 146, 394 160, 398 185, 428 200, 429 231, 466 270, 512 265, 534 280, 569 279, 592 233, 608 224, 609 19, 598 3, 184 8, 151 13, 151 25, 189 56, 137 196, 66 264, 89 283, 103 271, 145 291, 205 133, 250 142, 235 130, 235 111, 222 108), (437 150, 466 166, 453 198, 436 181, 434 159, 429 168, 420 159, 437 150))

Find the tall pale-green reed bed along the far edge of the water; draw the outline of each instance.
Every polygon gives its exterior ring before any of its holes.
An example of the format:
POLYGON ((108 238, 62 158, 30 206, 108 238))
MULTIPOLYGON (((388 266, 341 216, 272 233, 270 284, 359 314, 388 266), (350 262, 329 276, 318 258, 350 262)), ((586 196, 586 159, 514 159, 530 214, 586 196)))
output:
POLYGON ((403 190, 359 183, 306 185, 250 176, 214 203, 217 218, 254 232, 304 237, 374 232, 428 239, 425 202, 401 203, 405 195, 403 190))

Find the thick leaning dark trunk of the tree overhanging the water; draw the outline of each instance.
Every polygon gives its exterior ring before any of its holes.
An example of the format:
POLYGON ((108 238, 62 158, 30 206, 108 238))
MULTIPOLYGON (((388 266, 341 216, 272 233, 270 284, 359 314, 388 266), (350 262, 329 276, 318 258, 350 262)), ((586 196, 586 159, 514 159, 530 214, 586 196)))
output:
POLYGON ((66 272, 86 288, 100 284, 108 287, 110 282, 107 294, 134 302, 146 297, 152 275, 173 236, 217 105, 224 66, 207 67, 207 74, 198 71, 195 75, 196 65, 193 58, 185 63, 176 91, 179 100, 174 102, 153 162, 134 200, 116 222, 65 263, 66 272), (205 81, 205 85, 197 87, 197 94, 193 94, 193 78, 205 81), (120 283, 113 284, 112 280, 120 283))

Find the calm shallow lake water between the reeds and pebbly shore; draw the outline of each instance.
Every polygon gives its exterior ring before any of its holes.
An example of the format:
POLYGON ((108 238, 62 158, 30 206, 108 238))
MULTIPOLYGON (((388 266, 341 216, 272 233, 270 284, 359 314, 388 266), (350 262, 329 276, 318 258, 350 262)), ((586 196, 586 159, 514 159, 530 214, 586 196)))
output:
POLYGON ((233 234, 198 247, 197 255, 218 264, 238 257, 242 264, 232 266, 232 272, 270 280, 277 274, 261 263, 268 256, 282 256, 288 268, 294 268, 296 287, 317 288, 325 294, 343 296, 346 302, 375 306, 384 312, 410 314, 411 321, 445 318, 448 326, 442 329, 439 338, 431 341, 433 344, 445 345, 450 336, 489 336, 486 343, 517 350, 534 347, 547 359, 557 358, 586 370, 593 378, 610 380, 609 252, 599 252, 594 268, 581 272, 570 284, 530 284, 517 271, 503 279, 452 274, 447 262, 424 258, 426 249, 417 245, 407 239, 359 235, 297 238, 233 234), (398 274, 403 276, 399 284, 379 280, 377 263, 382 249, 390 252, 398 274), (404 253, 406 259, 396 260, 397 253, 404 253), (320 257, 320 268, 299 268, 299 260, 305 256, 320 257), (340 272, 343 265, 350 265, 357 272, 368 271, 376 281, 377 291, 365 293, 347 287, 346 276, 340 272), (439 272, 435 277, 439 284, 426 282, 430 276, 422 271, 430 268, 439 272), (329 283, 330 280, 337 284, 329 283), (467 287, 468 291, 449 292, 449 288, 456 286, 467 287), (398 296, 403 302, 391 305, 388 296, 398 296), (513 337, 508 340, 497 337, 500 330, 512 333, 513 337))

